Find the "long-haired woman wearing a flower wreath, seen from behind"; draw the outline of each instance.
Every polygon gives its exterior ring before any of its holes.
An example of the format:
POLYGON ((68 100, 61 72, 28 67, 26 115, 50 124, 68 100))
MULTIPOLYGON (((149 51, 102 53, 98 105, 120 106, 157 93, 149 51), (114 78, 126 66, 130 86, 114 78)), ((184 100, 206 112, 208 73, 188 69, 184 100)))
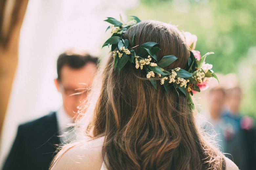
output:
POLYGON ((196 36, 137 17, 106 21, 111 54, 81 106, 81 139, 62 147, 51 170, 237 170, 195 125, 191 96, 216 77, 192 51, 196 36))

